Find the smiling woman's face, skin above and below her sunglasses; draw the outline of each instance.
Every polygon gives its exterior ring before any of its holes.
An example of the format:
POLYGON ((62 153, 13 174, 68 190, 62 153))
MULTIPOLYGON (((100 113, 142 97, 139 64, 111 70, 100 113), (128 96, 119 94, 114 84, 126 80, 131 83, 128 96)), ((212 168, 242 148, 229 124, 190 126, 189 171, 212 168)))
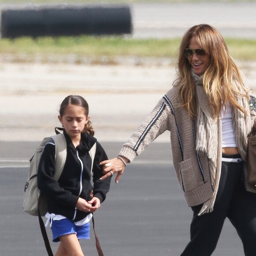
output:
MULTIPOLYGON (((190 39, 188 48, 193 50, 201 48, 194 36, 190 39)), ((191 56, 188 57, 188 62, 194 69, 196 75, 201 75, 209 67, 211 63, 211 58, 208 53, 204 56, 196 55, 196 53, 193 53, 191 56)))

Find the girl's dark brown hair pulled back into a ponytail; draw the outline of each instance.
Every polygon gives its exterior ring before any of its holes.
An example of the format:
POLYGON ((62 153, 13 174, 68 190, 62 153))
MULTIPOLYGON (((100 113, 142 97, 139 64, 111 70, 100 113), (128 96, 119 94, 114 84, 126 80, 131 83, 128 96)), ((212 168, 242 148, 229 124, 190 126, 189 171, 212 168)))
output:
MULTIPOLYGON (((63 102, 60 104, 60 117, 63 117, 68 105, 76 105, 84 108, 85 115, 88 117, 89 106, 87 101, 79 95, 69 95, 64 98, 63 102)), ((89 120, 83 128, 83 133, 90 134, 94 136, 94 128, 92 128, 91 121, 89 120)))

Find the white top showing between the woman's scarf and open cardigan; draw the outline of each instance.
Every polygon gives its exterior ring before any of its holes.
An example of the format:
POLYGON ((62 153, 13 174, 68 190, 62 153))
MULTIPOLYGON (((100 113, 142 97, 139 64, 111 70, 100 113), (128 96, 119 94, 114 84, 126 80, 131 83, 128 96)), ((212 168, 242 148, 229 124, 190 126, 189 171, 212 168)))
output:
POLYGON ((227 102, 222 112, 222 147, 237 147, 235 140, 231 106, 227 102))

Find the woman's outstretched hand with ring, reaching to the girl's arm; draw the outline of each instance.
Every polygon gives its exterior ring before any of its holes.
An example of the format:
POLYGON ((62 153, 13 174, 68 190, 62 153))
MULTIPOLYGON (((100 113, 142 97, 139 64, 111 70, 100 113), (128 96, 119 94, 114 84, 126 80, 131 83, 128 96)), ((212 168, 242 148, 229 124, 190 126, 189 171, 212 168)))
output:
MULTIPOLYGON (((122 157, 122 159, 128 163, 128 159, 122 157)), ((115 179, 116 183, 118 183, 118 180, 120 179, 120 176, 124 173, 125 164, 124 162, 116 157, 110 160, 105 160, 103 162, 100 162, 100 165, 103 166, 103 174, 100 178, 100 180, 105 180, 105 178, 114 175, 114 173, 117 173, 117 177, 115 179)))

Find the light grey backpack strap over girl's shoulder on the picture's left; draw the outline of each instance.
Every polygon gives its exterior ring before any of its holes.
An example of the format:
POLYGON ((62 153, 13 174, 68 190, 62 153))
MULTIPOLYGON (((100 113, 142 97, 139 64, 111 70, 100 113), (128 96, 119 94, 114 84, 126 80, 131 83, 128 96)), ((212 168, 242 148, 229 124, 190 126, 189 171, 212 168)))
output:
POLYGON ((58 180, 67 158, 67 142, 63 133, 52 136, 55 142, 55 172, 53 178, 58 180))

